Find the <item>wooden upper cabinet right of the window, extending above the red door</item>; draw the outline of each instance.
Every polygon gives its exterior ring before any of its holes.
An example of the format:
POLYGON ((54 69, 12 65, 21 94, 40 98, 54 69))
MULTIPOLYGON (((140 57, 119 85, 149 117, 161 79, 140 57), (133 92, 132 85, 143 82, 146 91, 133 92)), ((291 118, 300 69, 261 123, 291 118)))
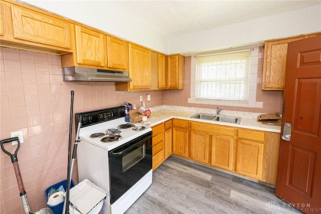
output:
POLYGON ((287 44, 289 42, 313 37, 316 35, 317 34, 310 34, 286 39, 265 41, 262 90, 284 90, 287 44))

